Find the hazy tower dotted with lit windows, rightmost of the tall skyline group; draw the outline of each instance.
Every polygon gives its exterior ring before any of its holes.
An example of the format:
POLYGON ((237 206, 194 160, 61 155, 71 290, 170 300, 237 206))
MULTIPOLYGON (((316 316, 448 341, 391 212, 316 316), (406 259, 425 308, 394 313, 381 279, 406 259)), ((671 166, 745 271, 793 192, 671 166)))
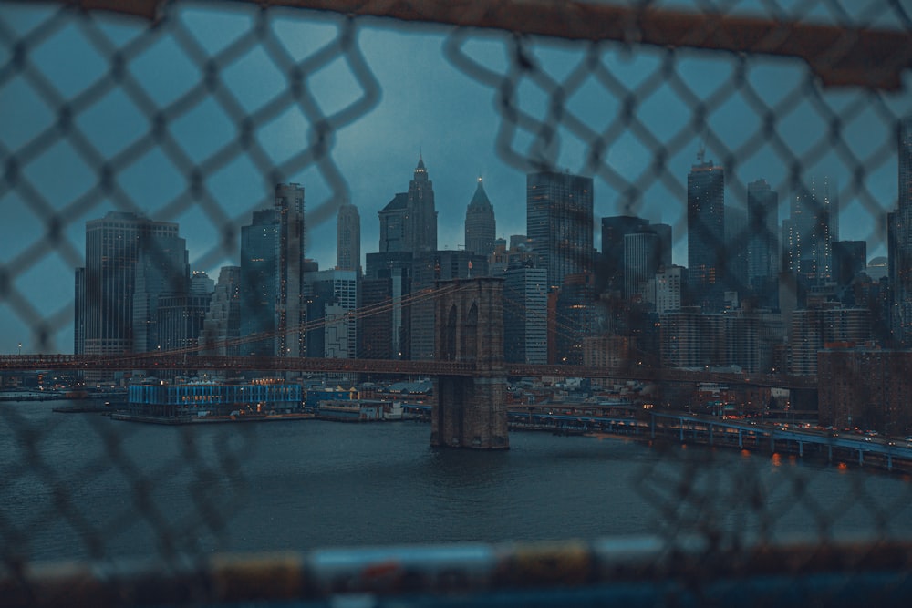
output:
POLYGON ((838 239, 838 213, 829 195, 829 180, 811 181, 792 199, 789 219, 782 222, 782 269, 793 271, 807 286, 831 279, 832 242, 838 239))

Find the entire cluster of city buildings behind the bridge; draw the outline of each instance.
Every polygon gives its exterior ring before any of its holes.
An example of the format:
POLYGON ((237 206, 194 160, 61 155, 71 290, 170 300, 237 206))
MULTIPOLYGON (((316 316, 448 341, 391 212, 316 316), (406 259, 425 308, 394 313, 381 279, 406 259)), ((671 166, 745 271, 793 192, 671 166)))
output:
POLYGON ((363 267, 358 208, 340 206, 331 270, 306 257, 304 188, 279 184, 217 281, 190 272, 177 224, 110 212, 86 225, 75 350, 430 359, 435 283, 496 276, 511 362, 815 376, 822 351, 912 346, 912 119, 897 149, 888 255, 871 263, 865 242, 839 240, 826 177, 796 186, 780 222, 766 180, 747 185, 746 209, 727 204, 725 169, 702 151, 687 178, 687 267, 672 263, 670 225, 631 215, 601 218, 596 250, 593 180, 565 171, 526 177, 526 233, 509 240, 479 178, 464 246, 441 250, 420 158, 378 212, 363 267))

